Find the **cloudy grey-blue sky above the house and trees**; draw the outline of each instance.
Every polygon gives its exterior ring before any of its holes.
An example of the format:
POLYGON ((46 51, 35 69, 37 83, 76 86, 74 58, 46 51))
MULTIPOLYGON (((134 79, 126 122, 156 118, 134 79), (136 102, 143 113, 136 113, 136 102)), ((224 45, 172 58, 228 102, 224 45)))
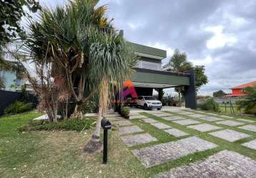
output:
MULTIPOLYGON (((46 6, 65 0, 41 0, 46 6)), ((255 0, 102 0, 128 41, 187 53, 210 82, 200 94, 256 80, 255 0)), ((162 63, 166 63, 164 59, 162 63)))

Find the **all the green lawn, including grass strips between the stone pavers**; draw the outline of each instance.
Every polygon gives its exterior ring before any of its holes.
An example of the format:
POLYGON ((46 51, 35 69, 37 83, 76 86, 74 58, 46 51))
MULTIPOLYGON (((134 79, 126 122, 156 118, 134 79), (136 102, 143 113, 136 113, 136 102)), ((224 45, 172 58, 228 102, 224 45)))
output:
MULTIPOLYGON (((172 112, 170 112, 172 113, 172 112)), ((174 114, 174 113, 172 113, 174 114)), ((41 132, 18 132, 17 128, 25 125, 26 122, 39 116, 37 113, 25 113, 14 117, 0 117, 0 175, 1 177, 154 177, 159 172, 168 171, 183 164, 205 159, 220 150, 232 150, 242 155, 256 159, 256 151, 242 147, 241 143, 256 138, 254 132, 240 130, 237 127, 217 125, 223 128, 231 128, 239 132, 252 135, 237 142, 227 142, 208 135, 207 132, 199 132, 189 129, 186 126, 177 125, 143 112, 159 122, 189 133, 190 137, 197 135, 204 140, 213 142, 219 147, 187 155, 165 164, 160 164, 146 169, 139 160, 132 155, 131 150, 157 145, 162 142, 171 142, 181 138, 172 137, 156 127, 142 122, 139 119, 131 120, 135 125, 157 138, 157 142, 151 142, 134 147, 126 147, 120 140, 117 127, 109 132, 109 163, 102 164, 102 152, 88 155, 83 152, 84 145, 89 141, 93 129, 83 132, 63 131, 41 131, 41 132)), ((179 114, 175 114, 179 115, 179 114)), ((185 115, 179 115, 188 117, 185 115)), ((220 116, 221 117, 221 116, 220 116)), ((255 119, 255 117, 241 117, 255 119)), ((196 120, 196 119, 195 119, 196 120)), ((200 122, 203 122, 200 120, 200 122)))

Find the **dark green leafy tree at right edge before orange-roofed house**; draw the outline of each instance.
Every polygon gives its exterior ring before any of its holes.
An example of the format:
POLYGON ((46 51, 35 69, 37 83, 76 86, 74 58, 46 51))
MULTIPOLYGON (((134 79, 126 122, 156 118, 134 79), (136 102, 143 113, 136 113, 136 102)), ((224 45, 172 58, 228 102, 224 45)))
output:
POLYGON ((237 101, 238 109, 245 109, 245 113, 256 115, 256 86, 244 89, 245 99, 237 101))

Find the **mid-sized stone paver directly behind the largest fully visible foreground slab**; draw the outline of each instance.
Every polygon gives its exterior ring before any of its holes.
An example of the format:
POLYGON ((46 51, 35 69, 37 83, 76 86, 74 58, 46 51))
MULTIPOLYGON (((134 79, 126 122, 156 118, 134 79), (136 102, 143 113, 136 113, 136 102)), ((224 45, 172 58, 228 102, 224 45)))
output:
POLYGON ((157 139, 155 137, 152 137, 148 133, 146 134, 137 134, 137 135, 127 135, 121 137, 121 139, 124 141, 124 143, 128 147, 132 147, 139 144, 144 144, 148 142, 156 142, 157 139))

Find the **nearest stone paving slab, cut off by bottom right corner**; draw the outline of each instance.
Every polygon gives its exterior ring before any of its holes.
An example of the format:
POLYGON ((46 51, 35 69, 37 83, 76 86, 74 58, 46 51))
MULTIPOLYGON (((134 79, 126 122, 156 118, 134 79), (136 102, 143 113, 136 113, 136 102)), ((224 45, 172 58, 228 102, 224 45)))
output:
POLYGON ((253 178, 256 161, 237 152, 221 151, 207 159, 177 167, 154 178, 253 178))

